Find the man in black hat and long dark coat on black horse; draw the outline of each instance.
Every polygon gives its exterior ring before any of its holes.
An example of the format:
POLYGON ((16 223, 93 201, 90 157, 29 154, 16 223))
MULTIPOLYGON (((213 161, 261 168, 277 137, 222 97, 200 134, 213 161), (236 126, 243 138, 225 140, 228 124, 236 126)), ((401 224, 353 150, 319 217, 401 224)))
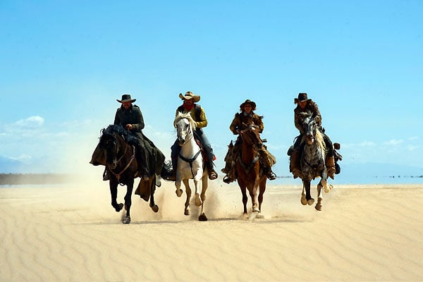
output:
POLYGON ((164 154, 160 152, 154 143, 150 141, 144 134, 144 118, 140 107, 133 104, 136 99, 131 99, 130 94, 123 94, 122 99, 116 99, 121 103, 121 107, 117 109, 114 124, 123 125, 126 129, 137 135, 138 146, 135 151, 137 161, 140 161, 140 174, 144 180, 148 180, 154 173, 160 174, 164 163, 164 154))

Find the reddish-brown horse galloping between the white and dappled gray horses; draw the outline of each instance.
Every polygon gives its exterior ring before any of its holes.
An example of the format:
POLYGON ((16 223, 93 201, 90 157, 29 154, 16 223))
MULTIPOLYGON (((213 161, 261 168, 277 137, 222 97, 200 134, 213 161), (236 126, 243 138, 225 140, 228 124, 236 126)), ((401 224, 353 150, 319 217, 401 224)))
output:
POLYGON ((266 175, 260 168, 259 149, 263 146, 256 125, 248 125, 240 131, 243 145, 240 155, 236 159, 236 172, 238 185, 243 193, 244 218, 247 219, 247 189, 252 200, 251 216, 262 218, 262 202, 266 190, 266 175))

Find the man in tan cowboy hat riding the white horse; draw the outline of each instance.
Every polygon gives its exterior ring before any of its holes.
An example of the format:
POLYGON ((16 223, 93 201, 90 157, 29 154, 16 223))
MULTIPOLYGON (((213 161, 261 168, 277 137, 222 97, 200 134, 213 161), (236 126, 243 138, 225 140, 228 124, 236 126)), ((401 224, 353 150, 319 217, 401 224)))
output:
MULTIPOLYGON (((188 114, 192 116, 194 121, 197 123, 197 128, 195 128, 195 138, 200 140, 200 143, 202 147, 204 148, 204 151, 206 152, 207 159, 206 165, 207 165, 207 171, 209 173, 209 179, 214 180, 217 178, 217 173, 214 170, 214 159, 216 157, 214 156, 212 145, 209 142, 209 139, 204 134, 204 131, 202 128, 205 128, 207 126, 207 118, 206 114, 204 112, 204 109, 199 104, 195 104, 200 101, 200 96, 195 95, 194 93, 188 91, 183 95, 182 93, 179 94, 179 98, 183 100, 183 104, 178 106, 178 109, 176 109, 176 116, 178 113, 188 114)), ((176 179, 176 166, 178 162, 178 154, 180 152, 180 145, 178 143, 178 140, 175 141, 175 143, 171 147, 171 160, 172 160, 172 166, 173 171, 171 173, 171 177, 168 180, 175 180, 176 179)))

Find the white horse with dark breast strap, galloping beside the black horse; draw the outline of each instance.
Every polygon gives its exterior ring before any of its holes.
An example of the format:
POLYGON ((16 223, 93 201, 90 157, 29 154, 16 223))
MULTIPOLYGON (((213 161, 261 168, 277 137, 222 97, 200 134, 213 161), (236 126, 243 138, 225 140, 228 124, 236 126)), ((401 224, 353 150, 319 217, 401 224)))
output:
POLYGON ((173 126, 175 126, 178 133, 178 143, 180 145, 180 153, 178 155, 178 165, 176 166, 176 195, 180 197, 182 190, 180 190, 180 182, 185 185, 185 192, 187 200, 185 201, 186 216, 190 215, 190 197, 191 188, 188 180, 193 179, 195 185, 195 205, 201 206, 199 221, 207 221, 207 216, 204 214, 204 200, 206 200, 206 190, 208 185, 207 170, 204 168, 201 148, 197 145, 194 139, 195 121, 190 114, 178 114, 173 126), (200 180, 202 181, 201 194, 199 193, 200 180))

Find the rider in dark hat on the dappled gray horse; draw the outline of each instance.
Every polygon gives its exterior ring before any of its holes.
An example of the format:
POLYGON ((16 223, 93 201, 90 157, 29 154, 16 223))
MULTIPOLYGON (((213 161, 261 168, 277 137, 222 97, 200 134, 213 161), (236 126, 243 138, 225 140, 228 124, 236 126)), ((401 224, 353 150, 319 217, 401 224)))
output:
POLYGON ((294 109, 295 127, 300 130, 300 135, 296 137, 294 145, 291 146, 288 150, 288 155, 290 155, 290 172, 293 173, 294 178, 302 176, 300 168, 300 157, 303 146, 301 141, 302 137, 305 135, 305 128, 303 128, 302 126, 302 120, 304 117, 304 113, 309 112, 312 113, 312 118, 314 118, 314 121, 316 121, 317 125, 319 126, 319 130, 324 136, 324 142, 327 148, 325 161, 326 168, 328 170, 328 176, 333 179, 335 177, 335 159, 333 157, 333 145, 331 140, 329 139, 329 136, 324 133, 324 128, 321 128, 321 114, 319 111, 319 106, 317 106, 317 104, 313 102, 312 99, 307 98, 307 93, 299 93, 298 98, 294 99, 294 104, 297 104, 297 107, 294 109))

